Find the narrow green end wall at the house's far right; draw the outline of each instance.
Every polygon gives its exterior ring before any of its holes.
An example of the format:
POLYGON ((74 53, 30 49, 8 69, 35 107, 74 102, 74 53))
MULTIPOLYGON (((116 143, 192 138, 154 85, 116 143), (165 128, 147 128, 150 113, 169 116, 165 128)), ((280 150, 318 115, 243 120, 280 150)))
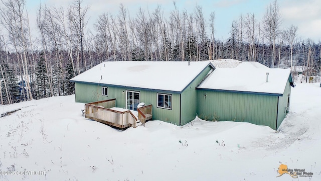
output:
POLYGON ((284 89, 284 93, 283 93, 283 95, 281 97, 279 97, 276 129, 279 128, 279 126, 281 125, 283 119, 286 117, 285 108, 287 107, 288 95, 290 95, 290 94, 291 94, 291 86, 290 86, 290 82, 287 81, 285 89, 284 89))

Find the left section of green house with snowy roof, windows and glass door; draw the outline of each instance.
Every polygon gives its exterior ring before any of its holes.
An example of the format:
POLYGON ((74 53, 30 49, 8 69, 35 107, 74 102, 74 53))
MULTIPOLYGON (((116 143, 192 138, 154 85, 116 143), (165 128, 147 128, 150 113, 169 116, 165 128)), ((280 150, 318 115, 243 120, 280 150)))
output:
POLYGON ((184 125, 195 119, 196 86, 214 67, 203 62, 103 62, 72 78, 76 102, 116 99, 116 107, 152 105, 152 119, 184 125))

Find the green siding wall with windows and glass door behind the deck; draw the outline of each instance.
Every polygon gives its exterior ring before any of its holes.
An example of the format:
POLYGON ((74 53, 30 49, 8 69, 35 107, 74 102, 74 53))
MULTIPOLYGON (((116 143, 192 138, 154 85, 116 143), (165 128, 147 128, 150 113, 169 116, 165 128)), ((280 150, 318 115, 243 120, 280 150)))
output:
POLYGON ((101 87, 104 85, 75 83, 76 86, 76 102, 91 103, 96 101, 116 99, 116 107, 126 108, 126 91, 135 91, 140 93, 140 102, 146 105, 152 105, 153 120, 163 120, 176 125, 180 124, 180 94, 172 95, 172 110, 157 108, 157 93, 169 94, 162 91, 145 91, 141 89, 125 87, 108 87, 108 97, 101 95, 101 87), (124 92, 124 94, 122 94, 124 92))

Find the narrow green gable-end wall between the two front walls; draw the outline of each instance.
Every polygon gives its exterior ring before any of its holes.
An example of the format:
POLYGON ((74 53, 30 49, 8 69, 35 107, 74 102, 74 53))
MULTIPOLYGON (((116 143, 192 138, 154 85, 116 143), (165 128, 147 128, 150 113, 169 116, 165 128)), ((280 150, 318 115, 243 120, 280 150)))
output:
POLYGON ((195 78, 193 82, 185 89, 181 96, 181 125, 192 121, 196 117, 197 111, 197 90, 196 86, 202 81, 206 74, 212 69, 208 66, 205 70, 195 78))

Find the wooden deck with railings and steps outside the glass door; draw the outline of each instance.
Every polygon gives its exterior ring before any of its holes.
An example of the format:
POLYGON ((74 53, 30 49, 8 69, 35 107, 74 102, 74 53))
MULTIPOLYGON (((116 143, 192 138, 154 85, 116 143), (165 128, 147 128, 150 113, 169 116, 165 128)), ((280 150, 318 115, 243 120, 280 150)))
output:
POLYGON ((136 128, 152 118, 152 105, 138 108, 138 116, 130 110, 114 110, 116 99, 85 104, 85 117, 117 128, 136 128))

